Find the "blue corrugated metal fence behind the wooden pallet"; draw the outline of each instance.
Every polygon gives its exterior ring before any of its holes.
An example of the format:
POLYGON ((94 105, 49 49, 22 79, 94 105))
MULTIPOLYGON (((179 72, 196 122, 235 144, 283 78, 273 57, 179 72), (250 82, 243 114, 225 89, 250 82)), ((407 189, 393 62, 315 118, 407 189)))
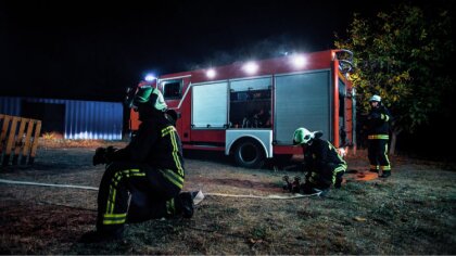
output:
POLYGON ((55 129, 64 139, 122 140, 117 102, 0 97, 0 114, 41 119, 43 132, 55 129))

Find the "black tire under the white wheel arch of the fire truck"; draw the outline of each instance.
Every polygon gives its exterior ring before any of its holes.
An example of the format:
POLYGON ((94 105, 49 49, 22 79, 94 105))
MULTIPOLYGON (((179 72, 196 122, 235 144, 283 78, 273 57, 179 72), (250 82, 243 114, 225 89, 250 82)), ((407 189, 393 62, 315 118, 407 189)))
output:
POLYGON ((240 141, 235 149, 235 162, 245 168, 259 168, 265 163, 265 152, 255 140, 240 141))

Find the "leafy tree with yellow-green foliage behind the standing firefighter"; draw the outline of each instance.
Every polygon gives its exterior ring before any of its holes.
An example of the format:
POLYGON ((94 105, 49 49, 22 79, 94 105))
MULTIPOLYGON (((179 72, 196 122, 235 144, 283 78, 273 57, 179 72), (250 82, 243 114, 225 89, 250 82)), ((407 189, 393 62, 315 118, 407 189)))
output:
POLYGON ((390 153, 397 136, 413 133, 441 111, 443 93, 454 89, 449 59, 454 53, 451 1, 440 7, 398 3, 372 20, 354 14, 347 39, 335 35, 335 47, 354 52, 351 75, 357 90, 358 111, 379 94, 393 115, 390 153))

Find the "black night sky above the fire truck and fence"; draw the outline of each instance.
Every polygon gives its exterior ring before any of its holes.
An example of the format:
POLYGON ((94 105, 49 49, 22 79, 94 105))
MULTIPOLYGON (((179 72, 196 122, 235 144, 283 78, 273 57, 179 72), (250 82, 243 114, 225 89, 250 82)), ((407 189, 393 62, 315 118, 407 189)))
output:
POLYGON ((393 1, 342 2, 0 1, 0 95, 121 101, 148 72, 331 49, 393 1))

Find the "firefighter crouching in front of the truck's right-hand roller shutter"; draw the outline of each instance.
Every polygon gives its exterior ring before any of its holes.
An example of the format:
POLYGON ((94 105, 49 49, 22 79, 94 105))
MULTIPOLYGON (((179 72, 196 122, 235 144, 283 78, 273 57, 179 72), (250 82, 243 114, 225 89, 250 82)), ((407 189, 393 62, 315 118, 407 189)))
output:
POLYGON ((297 128, 293 136, 293 145, 301 145, 304 152, 305 183, 302 190, 306 194, 322 191, 327 193, 331 185, 341 188, 342 176, 346 170, 345 161, 337 149, 327 140, 320 139, 321 131, 311 132, 297 128))

